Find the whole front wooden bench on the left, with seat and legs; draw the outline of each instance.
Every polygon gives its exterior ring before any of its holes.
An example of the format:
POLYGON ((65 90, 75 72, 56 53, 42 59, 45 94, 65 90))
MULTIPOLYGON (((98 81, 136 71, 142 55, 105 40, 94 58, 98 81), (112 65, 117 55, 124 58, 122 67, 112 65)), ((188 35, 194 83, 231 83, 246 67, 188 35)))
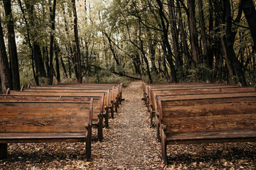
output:
POLYGON ((85 142, 91 154, 92 104, 68 101, 1 101, 0 159, 7 157, 8 143, 85 142))

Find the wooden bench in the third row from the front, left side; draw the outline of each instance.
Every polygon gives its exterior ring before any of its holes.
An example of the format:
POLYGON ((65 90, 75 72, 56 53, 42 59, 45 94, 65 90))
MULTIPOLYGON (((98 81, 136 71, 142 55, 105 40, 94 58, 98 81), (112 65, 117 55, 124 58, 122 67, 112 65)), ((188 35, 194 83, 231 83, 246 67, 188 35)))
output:
POLYGON ((102 94, 105 94, 104 98, 104 108, 105 111, 103 112, 103 116, 105 118, 105 125, 108 127, 108 117, 109 113, 111 115, 114 115, 114 102, 112 101, 110 91, 107 90, 106 92, 67 92, 67 91, 10 91, 7 90, 6 94, 14 94, 14 95, 38 95, 38 96, 102 96, 102 94))

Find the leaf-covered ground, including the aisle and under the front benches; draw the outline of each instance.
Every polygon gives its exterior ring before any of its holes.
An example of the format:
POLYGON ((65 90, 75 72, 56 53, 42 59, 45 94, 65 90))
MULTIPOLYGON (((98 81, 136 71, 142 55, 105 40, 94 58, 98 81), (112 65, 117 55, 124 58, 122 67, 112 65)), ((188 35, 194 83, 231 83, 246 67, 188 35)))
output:
POLYGON ((142 81, 123 90, 125 101, 102 142, 93 130, 90 162, 84 143, 9 144, 9 158, 0 161, 0 169, 256 169, 255 142, 168 145, 165 165, 142 96, 142 81))

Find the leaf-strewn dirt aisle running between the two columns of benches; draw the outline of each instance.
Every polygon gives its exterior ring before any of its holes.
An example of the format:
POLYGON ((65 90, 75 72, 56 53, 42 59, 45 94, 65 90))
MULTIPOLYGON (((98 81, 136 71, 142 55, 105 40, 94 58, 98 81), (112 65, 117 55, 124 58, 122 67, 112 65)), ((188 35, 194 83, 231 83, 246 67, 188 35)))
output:
MULTIPOLYGON (((154 169, 161 162, 159 143, 154 128, 149 128, 149 114, 142 101, 142 82, 135 81, 123 91, 119 113, 110 120, 110 129, 102 142, 102 156, 94 157, 97 168, 154 169), (153 149, 156 149, 152 151, 153 149)), ((90 166, 92 167, 92 166, 90 166)))

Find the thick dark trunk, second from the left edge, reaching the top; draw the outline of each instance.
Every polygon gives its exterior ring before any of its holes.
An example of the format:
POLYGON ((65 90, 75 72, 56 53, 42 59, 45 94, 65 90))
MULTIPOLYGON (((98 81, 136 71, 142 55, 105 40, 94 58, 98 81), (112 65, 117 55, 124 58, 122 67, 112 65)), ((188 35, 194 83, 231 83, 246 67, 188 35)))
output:
POLYGON ((13 81, 14 90, 20 89, 20 78, 18 72, 18 54, 14 33, 14 19, 11 13, 11 1, 4 1, 4 11, 6 13, 7 20, 7 30, 8 30, 8 42, 9 42, 9 54, 11 60, 11 76, 13 81))

